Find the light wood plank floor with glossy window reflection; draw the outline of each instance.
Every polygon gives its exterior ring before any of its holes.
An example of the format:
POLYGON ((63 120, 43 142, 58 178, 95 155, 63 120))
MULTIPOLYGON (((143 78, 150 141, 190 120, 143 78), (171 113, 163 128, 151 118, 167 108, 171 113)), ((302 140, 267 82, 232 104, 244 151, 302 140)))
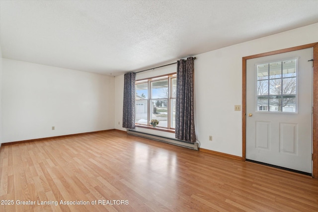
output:
POLYGON ((1 146, 0 180, 1 212, 318 211, 317 179, 118 131, 1 146))

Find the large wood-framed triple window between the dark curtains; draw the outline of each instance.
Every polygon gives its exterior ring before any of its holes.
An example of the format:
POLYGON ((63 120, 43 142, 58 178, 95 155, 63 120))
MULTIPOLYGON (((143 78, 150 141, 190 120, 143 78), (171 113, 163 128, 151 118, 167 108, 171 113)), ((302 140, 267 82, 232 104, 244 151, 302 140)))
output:
POLYGON ((136 80, 136 124, 150 126, 152 119, 159 128, 175 128, 176 74, 136 80))

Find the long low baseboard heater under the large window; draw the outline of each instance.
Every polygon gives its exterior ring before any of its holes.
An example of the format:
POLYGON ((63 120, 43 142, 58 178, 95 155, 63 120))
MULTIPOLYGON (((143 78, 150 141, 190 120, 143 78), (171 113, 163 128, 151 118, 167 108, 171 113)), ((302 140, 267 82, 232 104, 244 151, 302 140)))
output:
POLYGON ((171 138, 166 138, 166 137, 162 137, 162 136, 156 136, 156 135, 152 135, 152 134, 148 134, 148 133, 142 133, 142 132, 137 132, 137 131, 129 130, 129 129, 127 129, 127 134, 134 135, 134 136, 140 136, 140 137, 144 137, 144 138, 152 139, 152 140, 156 140, 156 141, 166 142, 166 143, 170 143, 170 144, 174 144, 174 145, 178 145, 178 146, 183 146, 183 147, 191 148, 191 149, 194 149, 194 150, 199 150, 199 144, 198 143, 190 143, 190 142, 186 142, 186 141, 180 141, 180 140, 177 140, 177 139, 171 139, 171 138))

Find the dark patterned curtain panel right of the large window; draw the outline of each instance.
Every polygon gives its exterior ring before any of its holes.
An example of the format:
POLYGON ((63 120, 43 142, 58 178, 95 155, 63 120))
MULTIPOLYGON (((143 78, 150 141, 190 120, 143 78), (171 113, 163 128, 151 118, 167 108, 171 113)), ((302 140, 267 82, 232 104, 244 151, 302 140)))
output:
POLYGON ((194 128, 194 59, 177 61, 175 138, 195 142, 194 128))

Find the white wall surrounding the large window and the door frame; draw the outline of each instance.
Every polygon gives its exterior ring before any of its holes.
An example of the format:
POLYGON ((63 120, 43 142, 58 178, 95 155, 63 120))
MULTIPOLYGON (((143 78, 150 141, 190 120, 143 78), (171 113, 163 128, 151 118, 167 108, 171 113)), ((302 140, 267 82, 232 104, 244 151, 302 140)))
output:
MULTIPOLYGON (((242 57, 315 42, 318 42, 318 23, 196 55, 195 127, 200 147, 242 156, 241 111, 234 111, 234 105, 241 105, 242 101, 242 57), (209 141, 209 136, 213 136, 213 141, 209 141)), ((176 70, 176 66, 168 66, 144 73, 161 75, 173 72, 167 71, 171 68, 176 70)), ((137 74, 137 77, 147 76, 137 74)), ((115 77, 115 122, 122 120, 123 79, 123 76, 115 77)), ((125 130, 118 123, 115 128, 125 130)))

